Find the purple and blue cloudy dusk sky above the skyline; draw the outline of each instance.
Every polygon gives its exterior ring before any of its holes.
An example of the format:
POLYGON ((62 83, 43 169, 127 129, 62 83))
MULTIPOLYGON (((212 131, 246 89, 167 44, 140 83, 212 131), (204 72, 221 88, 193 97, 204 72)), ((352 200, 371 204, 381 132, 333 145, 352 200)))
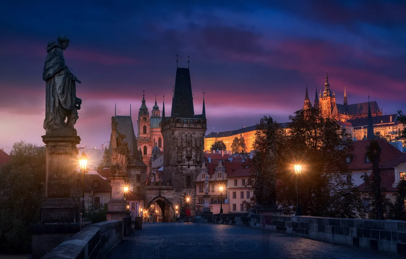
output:
POLYGON ((136 115, 143 90, 150 110, 155 94, 160 108, 165 95, 169 114, 176 54, 179 67, 190 55, 196 113, 205 91, 208 131, 251 126, 264 114, 287 121, 302 108, 306 84, 313 103, 326 70, 339 103, 345 82, 349 103, 369 94, 384 112, 406 108, 404 1, 113 2, 2 1, 0 148, 42 144, 43 63, 60 34, 71 40, 65 62, 82 81, 80 146, 108 141, 114 103, 118 115, 130 104, 136 115))

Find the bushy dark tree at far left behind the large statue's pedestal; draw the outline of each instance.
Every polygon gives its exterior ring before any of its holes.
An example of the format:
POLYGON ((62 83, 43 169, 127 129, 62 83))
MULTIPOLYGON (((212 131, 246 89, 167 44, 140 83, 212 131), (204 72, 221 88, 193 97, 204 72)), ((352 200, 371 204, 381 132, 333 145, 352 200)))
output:
POLYGON ((10 155, 0 168, 0 251, 30 253, 30 227, 44 198, 45 147, 16 142, 10 155))

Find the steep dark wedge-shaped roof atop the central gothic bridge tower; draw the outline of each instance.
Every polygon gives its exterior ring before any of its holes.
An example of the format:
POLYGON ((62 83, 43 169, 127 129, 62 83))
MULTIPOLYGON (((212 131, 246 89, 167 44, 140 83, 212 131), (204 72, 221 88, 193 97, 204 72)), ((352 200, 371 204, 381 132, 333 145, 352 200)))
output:
POLYGON ((175 92, 172 101, 172 118, 193 118, 192 84, 188 68, 176 69, 175 92))

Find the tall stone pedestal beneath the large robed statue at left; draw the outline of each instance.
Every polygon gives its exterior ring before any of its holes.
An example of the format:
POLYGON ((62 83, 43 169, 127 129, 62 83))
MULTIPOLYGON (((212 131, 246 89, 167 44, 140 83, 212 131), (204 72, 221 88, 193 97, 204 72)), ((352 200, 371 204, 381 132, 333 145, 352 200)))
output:
POLYGON ((32 225, 32 258, 41 258, 81 229, 76 196, 76 169, 80 137, 42 136, 46 148, 45 199, 40 224, 32 225), (51 242, 52 241, 52 242, 51 242))

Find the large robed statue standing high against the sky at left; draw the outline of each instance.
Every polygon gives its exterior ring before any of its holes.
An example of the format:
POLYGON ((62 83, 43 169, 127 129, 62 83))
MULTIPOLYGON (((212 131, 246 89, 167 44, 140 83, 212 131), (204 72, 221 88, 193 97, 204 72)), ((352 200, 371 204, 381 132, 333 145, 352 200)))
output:
POLYGON ((42 79, 45 81, 45 134, 76 135, 74 125, 82 99, 76 97, 76 84, 80 81, 71 73, 63 58, 63 50, 69 45, 65 35, 58 41, 50 41, 47 46, 42 79), (65 122, 65 120, 67 121, 65 122))

